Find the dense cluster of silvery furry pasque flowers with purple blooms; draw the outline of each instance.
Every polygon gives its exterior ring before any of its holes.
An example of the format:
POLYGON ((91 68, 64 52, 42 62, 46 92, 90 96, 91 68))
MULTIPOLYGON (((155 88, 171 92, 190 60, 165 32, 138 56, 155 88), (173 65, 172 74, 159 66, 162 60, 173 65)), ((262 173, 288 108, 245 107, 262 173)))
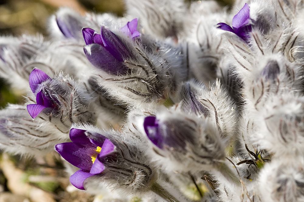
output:
POLYGON ((0 111, 0 149, 55 148, 110 200, 303 201, 302 1, 125 2, 0 38, 1 76, 27 93, 0 111))

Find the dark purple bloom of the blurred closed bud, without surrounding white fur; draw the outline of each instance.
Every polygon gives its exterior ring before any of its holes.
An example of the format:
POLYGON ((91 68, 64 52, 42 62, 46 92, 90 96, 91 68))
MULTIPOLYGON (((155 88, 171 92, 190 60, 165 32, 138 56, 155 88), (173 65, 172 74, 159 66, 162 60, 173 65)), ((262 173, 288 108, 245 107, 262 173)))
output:
POLYGON ((193 141, 188 123, 179 117, 158 120, 154 116, 148 116, 144 119, 143 128, 151 142, 160 149, 164 146, 182 149, 186 142, 193 141))

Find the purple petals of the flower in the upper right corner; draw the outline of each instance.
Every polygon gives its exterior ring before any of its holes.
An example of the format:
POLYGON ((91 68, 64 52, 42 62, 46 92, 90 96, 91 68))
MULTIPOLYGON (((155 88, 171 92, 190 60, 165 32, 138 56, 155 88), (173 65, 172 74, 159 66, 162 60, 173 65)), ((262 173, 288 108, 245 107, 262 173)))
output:
POLYGON ((237 13, 237 15, 234 15, 232 19, 232 28, 223 22, 218 23, 217 28, 233 32, 246 41, 249 38, 248 33, 252 30, 250 22, 249 5, 245 3, 244 7, 237 13))

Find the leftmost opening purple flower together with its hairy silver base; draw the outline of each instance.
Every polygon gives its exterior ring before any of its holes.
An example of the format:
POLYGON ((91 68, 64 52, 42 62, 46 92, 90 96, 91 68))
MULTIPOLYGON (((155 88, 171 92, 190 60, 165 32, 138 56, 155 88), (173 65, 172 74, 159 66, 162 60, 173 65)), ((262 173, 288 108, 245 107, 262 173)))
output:
MULTIPOLYGON (((89 95, 70 77, 59 75, 51 79, 39 69, 34 69, 29 84, 36 95, 36 104, 28 104, 32 118, 41 114, 42 119, 54 122, 63 131, 73 123, 92 122, 94 114, 89 108, 89 95)), ((29 101, 32 102, 29 98, 29 101)))

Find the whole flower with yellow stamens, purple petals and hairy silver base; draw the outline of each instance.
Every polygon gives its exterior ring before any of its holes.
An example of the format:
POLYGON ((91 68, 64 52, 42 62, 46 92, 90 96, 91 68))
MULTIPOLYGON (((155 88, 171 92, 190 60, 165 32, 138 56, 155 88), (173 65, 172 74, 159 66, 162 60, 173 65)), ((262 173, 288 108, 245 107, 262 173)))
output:
MULTIPOLYGON (((72 142, 55 146, 56 151, 69 163, 80 168, 70 177, 78 189, 89 188, 91 180, 131 193, 149 189, 156 180, 153 166, 140 148, 144 143, 133 135, 118 132, 101 132, 92 126, 72 128, 72 142), (102 133, 102 135, 101 135, 102 133)), ((93 183, 93 184, 94 184, 93 183)))

